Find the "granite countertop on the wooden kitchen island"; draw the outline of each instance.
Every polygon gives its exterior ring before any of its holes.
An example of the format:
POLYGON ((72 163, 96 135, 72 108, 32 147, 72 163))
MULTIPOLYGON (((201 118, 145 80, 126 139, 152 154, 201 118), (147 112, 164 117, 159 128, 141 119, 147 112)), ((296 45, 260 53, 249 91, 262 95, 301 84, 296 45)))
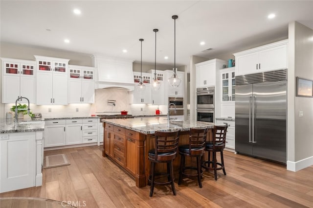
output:
POLYGON ((153 134, 155 131, 189 131, 190 128, 214 128, 214 123, 202 121, 176 121, 164 117, 135 117, 128 119, 102 119, 102 122, 116 125, 125 129, 144 134, 153 134))

